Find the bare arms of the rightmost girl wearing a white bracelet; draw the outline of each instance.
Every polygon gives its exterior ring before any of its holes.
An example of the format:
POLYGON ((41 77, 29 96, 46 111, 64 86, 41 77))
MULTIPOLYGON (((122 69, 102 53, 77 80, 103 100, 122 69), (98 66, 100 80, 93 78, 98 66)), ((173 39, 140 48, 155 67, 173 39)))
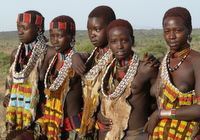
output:
MULTIPOLYGON (((194 68, 194 78, 195 78, 195 93, 197 97, 200 97, 200 63, 198 59, 193 61, 193 68, 194 68)), ((159 94, 159 84, 160 80, 159 77, 156 80, 155 85, 152 87, 151 92, 158 97, 159 94)), ((170 110, 161 110, 161 111, 170 111, 170 110)), ((165 118, 171 118, 171 116, 167 116, 165 118)), ((177 120, 185 120, 185 121, 199 121, 200 120, 200 103, 199 101, 197 104, 189 105, 189 106, 182 106, 177 108, 175 111, 175 119, 177 120)), ((148 123, 146 124, 146 131, 149 133, 153 132, 153 129, 157 125, 158 121, 160 120, 160 111, 156 110, 150 117, 148 123)))

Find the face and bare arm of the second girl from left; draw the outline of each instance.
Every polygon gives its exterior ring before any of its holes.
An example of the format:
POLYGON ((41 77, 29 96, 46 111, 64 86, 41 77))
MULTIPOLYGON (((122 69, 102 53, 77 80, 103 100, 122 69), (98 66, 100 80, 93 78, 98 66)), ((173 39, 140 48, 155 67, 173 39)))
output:
MULTIPOLYGON (((55 47, 57 53, 66 53, 70 49, 72 36, 60 29, 50 30, 50 41, 55 47)), ((56 67, 60 67, 58 61, 56 67)), ((81 112, 83 107, 81 79, 79 76, 74 76, 70 79, 70 90, 67 93, 64 102, 64 118, 75 116, 81 112)))

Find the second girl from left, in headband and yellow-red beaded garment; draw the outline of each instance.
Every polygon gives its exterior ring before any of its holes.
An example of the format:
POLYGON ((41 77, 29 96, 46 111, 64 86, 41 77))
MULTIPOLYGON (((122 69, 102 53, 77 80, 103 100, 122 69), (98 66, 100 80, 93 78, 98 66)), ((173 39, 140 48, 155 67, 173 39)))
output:
POLYGON ((44 115, 36 122, 35 135, 46 135, 51 140, 78 139, 82 88, 80 77, 75 76, 71 67, 75 31, 75 22, 69 16, 58 16, 50 23, 50 41, 57 53, 45 75, 47 99, 44 115))

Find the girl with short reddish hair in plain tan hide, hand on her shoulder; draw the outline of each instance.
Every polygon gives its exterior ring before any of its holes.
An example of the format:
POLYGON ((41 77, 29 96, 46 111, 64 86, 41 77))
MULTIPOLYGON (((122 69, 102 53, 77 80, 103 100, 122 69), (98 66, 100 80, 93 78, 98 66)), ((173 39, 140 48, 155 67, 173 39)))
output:
POLYGON ((139 60, 132 50, 133 28, 126 20, 112 21, 107 38, 114 59, 104 72, 99 91, 103 117, 98 118, 98 123, 104 125, 99 139, 148 139, 143 129, 150 110, 150 86, 158 72, 157 60, 147 55, 139 60))

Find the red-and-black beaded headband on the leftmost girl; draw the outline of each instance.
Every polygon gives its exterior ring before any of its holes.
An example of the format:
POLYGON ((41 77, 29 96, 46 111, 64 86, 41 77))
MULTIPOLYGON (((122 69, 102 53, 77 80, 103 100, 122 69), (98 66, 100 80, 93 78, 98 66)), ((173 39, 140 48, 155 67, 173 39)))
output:
POLYGON ((31 14, 31 13, 21 13, 17 17, 17 22, 25 22, 25 23, 32 23, 35 25, 42 25, 44 18, 37 14, 31 14))

